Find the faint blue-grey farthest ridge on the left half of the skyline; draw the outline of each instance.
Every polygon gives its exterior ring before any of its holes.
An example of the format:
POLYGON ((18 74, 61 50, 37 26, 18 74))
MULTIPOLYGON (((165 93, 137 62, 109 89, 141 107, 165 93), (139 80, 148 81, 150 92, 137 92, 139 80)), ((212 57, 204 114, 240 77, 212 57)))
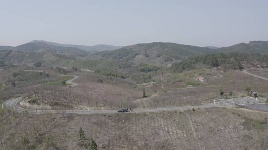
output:
POLYGON ((79 49, 86 50, 86 51, 105 51, 105 50, 114 50, 114 49, 121 48, 121 46, 113 46, 113 45, 106 45, 106 44, 85 46, 85 45, 74 45, 74 44, 60 44, 60 43, 45 41, 45 40, 33 40, 31 42, 40 42, 40 43, 46 43, 49 45, 62 46, 62 47, 75 47, 75 48, 79 48, 79 49))

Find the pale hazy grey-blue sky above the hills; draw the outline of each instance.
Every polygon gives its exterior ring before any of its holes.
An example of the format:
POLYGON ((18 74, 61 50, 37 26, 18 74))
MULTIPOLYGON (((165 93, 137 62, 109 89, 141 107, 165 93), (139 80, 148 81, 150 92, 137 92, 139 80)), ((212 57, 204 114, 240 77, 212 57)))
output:
POLYGON ((268 40, 268 0, 0 0, 0 45, 268 40))

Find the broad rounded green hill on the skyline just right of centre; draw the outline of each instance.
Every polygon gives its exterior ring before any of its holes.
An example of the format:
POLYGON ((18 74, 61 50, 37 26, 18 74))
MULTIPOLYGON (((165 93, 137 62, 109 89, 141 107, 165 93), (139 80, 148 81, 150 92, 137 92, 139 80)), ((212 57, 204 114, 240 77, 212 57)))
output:
POLYGON ((188 56, 215 53, 218 50, 169 42, 135 44, 112 51, 99 52, 102 58, 130 60, 134 63, 166 64, 188 56))

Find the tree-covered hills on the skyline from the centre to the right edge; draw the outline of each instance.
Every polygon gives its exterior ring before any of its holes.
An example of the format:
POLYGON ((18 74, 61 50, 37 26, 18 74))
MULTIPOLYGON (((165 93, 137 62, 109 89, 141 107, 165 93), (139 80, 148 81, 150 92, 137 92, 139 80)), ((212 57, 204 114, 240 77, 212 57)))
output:
POLYGON ((222 48, 211 46, 199 47, 169 42, 152 42, 126 46, 112 51, 103 51, 96 55, 104 59, 114 58, 128 60, 136 64, 168 64, 191 56, 214 53, 228 54, 232 52, 268 54, 268 41, 250 41, 249 43, 239 43, 222 48))

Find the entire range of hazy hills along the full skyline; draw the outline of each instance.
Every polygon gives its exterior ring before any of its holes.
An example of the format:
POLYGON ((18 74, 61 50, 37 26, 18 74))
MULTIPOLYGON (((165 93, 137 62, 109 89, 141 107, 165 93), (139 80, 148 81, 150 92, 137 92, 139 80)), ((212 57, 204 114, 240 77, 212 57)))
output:
MULTIPOLYGON (((31 53, 29 56, 34 57, 36 55, 43 62, 47 62, 48 58, 55 60, 55 62, 58 61, 58 58, 61 58, 60 60, 117 59, 135 64, 150 63, 163 65, 183 60, 189 56, 220 52, 268 54, 268 41, 250 41, 249 43, 239 43, 229 47, 218 48, 214 46, 199 47, 170 42, 140 43, 120 47, 102 44, 95 46, 70 45, 44 40, 33 40, 15 47, 0 46, 0 59, 10 63, 22 62, 29 55, 28 53, 31 53), (19 60, 16 59, 17 57, 19 60), (57 57, 57 59, 54 57, 57 57)), ((36 59, 33 58, 33 60, 36 59)), ((34 61, 29 62, 34 63, 34 61)))

